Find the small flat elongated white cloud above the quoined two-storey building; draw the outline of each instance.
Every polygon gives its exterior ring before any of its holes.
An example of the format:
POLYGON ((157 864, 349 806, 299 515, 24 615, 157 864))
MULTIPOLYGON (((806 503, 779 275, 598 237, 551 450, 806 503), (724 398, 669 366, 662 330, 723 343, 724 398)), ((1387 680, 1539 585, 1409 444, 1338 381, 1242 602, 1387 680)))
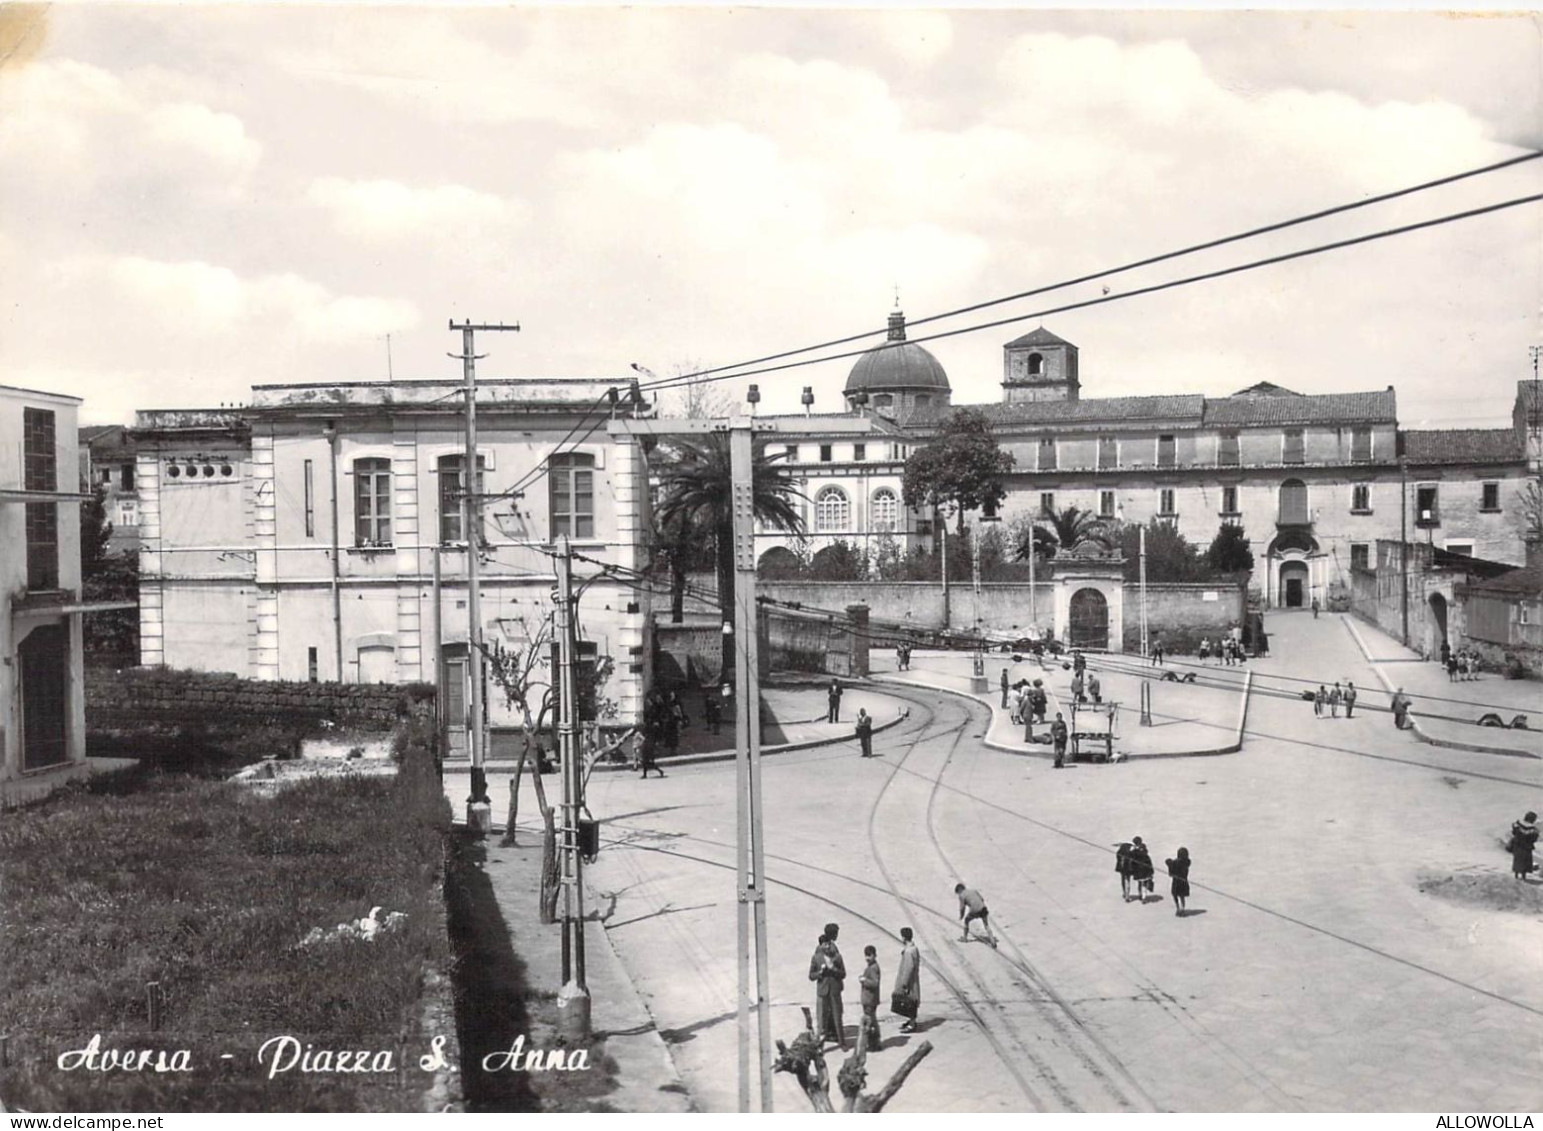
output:
POLYGON ((503 238, 518 228, 528 207, 464 185, 415 188, 400 181, 316 177, 307 199, 332 214, 347 236, 363 239, 430 238, 455 241, 503 238))

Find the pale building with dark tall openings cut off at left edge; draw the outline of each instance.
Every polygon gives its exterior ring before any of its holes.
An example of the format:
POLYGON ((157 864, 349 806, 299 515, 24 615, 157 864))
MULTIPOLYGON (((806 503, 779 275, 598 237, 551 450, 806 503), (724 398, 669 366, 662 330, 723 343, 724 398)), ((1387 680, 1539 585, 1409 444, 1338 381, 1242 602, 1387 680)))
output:
POLYGON ((0 386, 0 805, 88 773, 79 406, 0 386))

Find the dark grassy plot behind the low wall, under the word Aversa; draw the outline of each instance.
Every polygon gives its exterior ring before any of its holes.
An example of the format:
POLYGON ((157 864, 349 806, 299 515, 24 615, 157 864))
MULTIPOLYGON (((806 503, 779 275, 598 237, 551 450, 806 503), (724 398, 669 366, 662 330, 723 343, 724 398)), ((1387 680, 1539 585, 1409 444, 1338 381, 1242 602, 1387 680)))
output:
MULTIPOLYGON (((449 966, 449 807, 427 753, 393 778, 273 796, 150 773, 66 792, 0 825, 0 1100, 28 1111, 400 1111, 432 1082, 423 981, 449 966), (373 941, 313 927, 403 912, 373 941), (164 1023, 150 1029, 147 983, 164 1023), (100 1049, 148 1049, 103 1071, 100 1049), (312 1055, 270 1072, 282 1051, 312 1055), (185 1051, 185 1057, 179 1057, 185 1051), (338 1068, 324 1051, 363 1051, 338 1068), (60 1057, 66 1057, 62 1068, 60 1057), (187 1071, 156 1071, 156 1063, 187 1071)), ((449 1055, 449 1054, 447 1054, 449 1055)))

